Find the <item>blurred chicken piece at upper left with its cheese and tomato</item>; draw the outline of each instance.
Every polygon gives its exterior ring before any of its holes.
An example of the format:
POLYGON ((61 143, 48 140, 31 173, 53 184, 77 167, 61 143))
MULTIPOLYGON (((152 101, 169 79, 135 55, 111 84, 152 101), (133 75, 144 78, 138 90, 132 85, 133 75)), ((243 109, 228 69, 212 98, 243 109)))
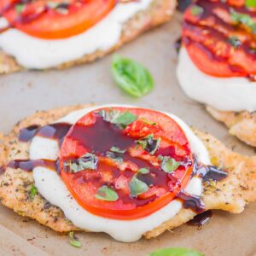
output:
POLYGON ((1 0, 0 73, 90 62, 170 20, 175 0, 1 0))

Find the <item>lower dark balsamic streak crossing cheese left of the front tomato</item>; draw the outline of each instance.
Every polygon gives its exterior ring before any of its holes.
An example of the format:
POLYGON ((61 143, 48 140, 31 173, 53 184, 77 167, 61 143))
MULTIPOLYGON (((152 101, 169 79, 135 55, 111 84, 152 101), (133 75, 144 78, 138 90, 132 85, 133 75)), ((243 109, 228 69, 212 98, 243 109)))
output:
POLYGON ((59 161, 55 160, 12 160, 7 165, 13 169, 21 169, 26 172, 32 172, 36 167, 49 168, 52 171, 58 172, 59 161))

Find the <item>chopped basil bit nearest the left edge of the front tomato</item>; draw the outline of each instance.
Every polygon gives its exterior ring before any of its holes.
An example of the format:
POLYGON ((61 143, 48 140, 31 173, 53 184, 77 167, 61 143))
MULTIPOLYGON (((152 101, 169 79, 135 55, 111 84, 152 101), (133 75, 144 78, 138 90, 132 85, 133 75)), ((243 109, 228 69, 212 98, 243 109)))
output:
POLYGON ((95 154, 86 153, 77 160, 68 160, 63 164, 66 172, 76 173, 86 169, 96 170, 98 158, 95 154))

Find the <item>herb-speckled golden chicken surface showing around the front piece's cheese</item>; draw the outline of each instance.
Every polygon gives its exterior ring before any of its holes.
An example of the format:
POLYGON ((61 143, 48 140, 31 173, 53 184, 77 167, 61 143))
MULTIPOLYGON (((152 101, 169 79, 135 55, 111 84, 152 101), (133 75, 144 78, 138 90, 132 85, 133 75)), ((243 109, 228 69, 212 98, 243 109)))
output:
MULTIPOLYGON (((56 108, 49 111, 38 111, 23 119, 9 135, 0 135, 0 165, 5 166, 10 160, 27 160, 29 143, 20 143, 19 131, 30 125, 48 125, 56 119, 74 110, 90 107, 90 105, 56 108)), ((232 152, 223 143, 207 133, 195 130, 195 134, 205 143, 211 156, 212 164, 228 172, 228 177, 220 182, 203 184, 202 200, 206 209, 221 209, 228 212, 240 213, 247 203, 256 200, 256 156, 247 157, 232 152)), ((30 196, 33 185, 32 172, 14 170, 7 167, 0 175, 0 201, 6 207, 13 209, 22 216, 36 219, 40 224, 49 228, 67 232, 79 230, 67 218, 60 208, 51 205, 43 196, 30 196)), ((175 218, 161 224, 154 230, 144 234, 146 238, 159 236, 165 230, 184 224, 195 216, 195 212, 182 209, 175 218)))

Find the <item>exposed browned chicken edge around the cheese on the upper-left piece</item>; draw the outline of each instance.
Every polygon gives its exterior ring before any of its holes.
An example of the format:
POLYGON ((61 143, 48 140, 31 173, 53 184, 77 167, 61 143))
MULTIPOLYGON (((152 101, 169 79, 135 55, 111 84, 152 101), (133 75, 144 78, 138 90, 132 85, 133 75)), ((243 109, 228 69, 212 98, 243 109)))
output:
MULTIPOLYGON (((137 15, 134 15, 134 17, 124 24, 118 44, 115 44, 111 49, 97 50, 93 54, 84 55, 78 60, 67 61, 60 66, 55 67, 55 69, 63 69, 89 63, 96 61, 96 59, 99 59, 104 55, 108 55, 114 50, 119 49, 122 45, 137 38, 143 32, 171 20, 176 4, 176 0, 154 0, 148 9, 138 12, 137 15)), ((4 53, 3 50, 0 49, 0 74, 15 73, 22 69, 25 69, 25 67, 21 67, 19 63, 15 61, 15 58, 4 53)))

